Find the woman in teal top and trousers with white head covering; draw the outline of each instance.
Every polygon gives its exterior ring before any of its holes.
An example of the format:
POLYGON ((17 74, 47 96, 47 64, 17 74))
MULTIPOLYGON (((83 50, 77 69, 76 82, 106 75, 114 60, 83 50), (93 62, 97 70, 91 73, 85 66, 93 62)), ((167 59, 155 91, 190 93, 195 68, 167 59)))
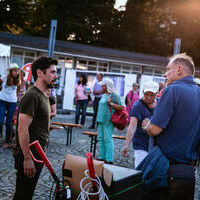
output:
POLYGON ((99 102, 99 110, 97 114, 98 123, 98 141, 100 145, 99 160, 112 164, 114 158, 114 142, 112 138, 114 125, 110 121, 111 114, 115 110, 122 109, 120 96, 116 93, 114 83, 111 79, 105 79, 101 82, 104 95, 99 102))

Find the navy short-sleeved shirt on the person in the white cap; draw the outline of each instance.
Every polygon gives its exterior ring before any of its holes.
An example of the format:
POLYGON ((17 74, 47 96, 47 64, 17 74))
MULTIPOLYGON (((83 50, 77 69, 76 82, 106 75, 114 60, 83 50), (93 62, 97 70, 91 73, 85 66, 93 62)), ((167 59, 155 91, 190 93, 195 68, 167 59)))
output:
MULTIPOLYGON (((151 109, 151 112, 153 113, 154 108, 149 109, 151 109)), ((133 149, 148 151, 149 136, 142 129, 141 124, 145 118, 151 118, 152 114, 149 109, 141 102, 141 100, 136 101, 131 108, 130 116, 135 117, 138 120, 137 129, 132 140, 133 149)))

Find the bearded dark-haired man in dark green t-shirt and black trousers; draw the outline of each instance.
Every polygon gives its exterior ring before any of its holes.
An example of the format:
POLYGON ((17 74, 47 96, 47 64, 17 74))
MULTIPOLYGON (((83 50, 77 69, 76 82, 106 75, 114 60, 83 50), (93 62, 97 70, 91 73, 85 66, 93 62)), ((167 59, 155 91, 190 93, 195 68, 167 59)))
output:
MULTIPOLYGON (((16 190, 14 200, 31 200, 43 165, 34 163, 28 146, 39 140, 42 148, 49 137, 50 105, 44 92, 52 88, 58 78, 56 74, 57 60, 40 57, 32 64, 34 85, 23 96, 18 116, 16 147, 13 155, 17 170, 16 190)), ((34 156, 38 158, 36 152, 34 156)))

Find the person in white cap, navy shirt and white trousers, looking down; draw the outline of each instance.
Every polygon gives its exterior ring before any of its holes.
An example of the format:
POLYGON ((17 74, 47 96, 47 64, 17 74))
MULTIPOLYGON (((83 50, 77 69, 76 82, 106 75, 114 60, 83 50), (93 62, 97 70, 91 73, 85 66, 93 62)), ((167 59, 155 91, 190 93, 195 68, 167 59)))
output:
POLYGON ((156 94, 158 92, 159 85, 154 81, 149 81, 144 84, 143 92, 144 97, 135 102, 130 112, 130 124, 127 129, 126 141, 122 154, 124 157, 128 157, 128 147, 132 140, 135 168, 148 154, 149 136, 141 127, 142 121, 145 118, 151 118, 154 108, 157 104, 156 94))

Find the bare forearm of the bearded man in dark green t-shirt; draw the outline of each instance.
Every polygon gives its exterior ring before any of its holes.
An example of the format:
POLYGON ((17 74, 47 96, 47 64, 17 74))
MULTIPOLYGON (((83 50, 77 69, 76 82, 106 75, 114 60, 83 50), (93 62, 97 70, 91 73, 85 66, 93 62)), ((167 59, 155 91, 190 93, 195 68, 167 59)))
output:
POLYGON ((22 128, 19 127, 18 128, 18 136, 19 136, 19 144, 21 146, 23 155, 24 155, 24 159, 30 159, 31 156, 28 152, 28 146, 30 144, 30 139, 29 139, 29 132, 27 128, 22 128))

